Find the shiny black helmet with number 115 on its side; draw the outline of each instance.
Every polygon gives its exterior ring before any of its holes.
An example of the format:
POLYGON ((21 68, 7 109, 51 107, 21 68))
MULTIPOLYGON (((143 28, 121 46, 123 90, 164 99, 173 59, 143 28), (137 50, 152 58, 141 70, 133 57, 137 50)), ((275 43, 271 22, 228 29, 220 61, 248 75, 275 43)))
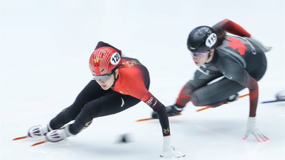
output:
POLYGON ((213 28, 200 26, 192 30, 188 36, 187 46, 191 52, 205 52, 217 42, 217 35, 213 28))

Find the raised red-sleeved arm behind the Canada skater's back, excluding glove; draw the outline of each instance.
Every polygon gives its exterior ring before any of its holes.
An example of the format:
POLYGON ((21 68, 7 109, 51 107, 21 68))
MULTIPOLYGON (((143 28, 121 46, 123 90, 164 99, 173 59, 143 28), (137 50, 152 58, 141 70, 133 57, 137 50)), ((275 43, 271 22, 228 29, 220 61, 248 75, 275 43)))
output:
POLYGON ((237 35, 237 36, 241 36, 241 37, 250 37, 251 34, 249 34, 249 32, 247 32, 245 29, 243 29, 243 27, 241 27, 239 24, 229 20, 229 19, 225 19, 222 20, 221 22, 215 24, 212 28, 216 28, 216 27, 220 27, 224 30, 226 30, 227 32, 237 35))

